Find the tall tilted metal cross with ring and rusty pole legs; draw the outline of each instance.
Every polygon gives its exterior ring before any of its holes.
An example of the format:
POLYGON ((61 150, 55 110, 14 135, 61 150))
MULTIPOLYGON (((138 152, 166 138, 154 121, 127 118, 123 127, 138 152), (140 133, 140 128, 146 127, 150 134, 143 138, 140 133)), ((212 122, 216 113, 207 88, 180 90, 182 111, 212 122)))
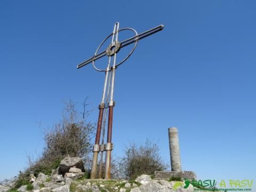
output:
POLYGON ((157 33, 158 31, 161 31, 164 28, 163 25, 159 25, 157 27, 154 27, 152 29, 149 29, 141 34, 138 34, 136 30, 132 28, 123 28, 119 29, 119 22, 115 23, 113 33, 111 33, 109 36, 107 36, 102 43, 99 45, 98 49, 96 50, 93 57, 90 59, 80 63, 77 65, 77 69, 92 63, 93 67, 97 71, 104 71, 105 72, 105 82, 103 86, 103 94, 102 94, 102 100, 99 105, 99 119, 98 119, 98 125, 97 125, 97 133, 95 138, 95 145, 93 146, 93 159, 92 159, 92 170, 91 170, 91 179, 95 179, 97 175, 97 166, 98 166, 98 155, 99 152, 101 152, 101 162, 100 162, 100 170, 99 170, 99 178, 101 178, 102 174, 102 157, 103 157, 103 151, 106 151, 106 166, 105 166, 105 179, 111 178, 111 150, 113 149, 113 143, 111 143, 111 137, 112 137, 112 123, 113 123, 113 107, 115 106, 115 102, 113 100, 114 96, 114 83, 115 83, 115 70, 116 68, 121 65, 124 61, 126 61, 133 51, 135 50, 137 46, 137 42, 140 39, 143 39, 149 35, 152 35, 154 33, 157 33), (130 30, 133 31, 135 36, 128 38, 122 42, 118 42, 118 34, 119 32, 123 30, 130 30), (105 51, 102 51, 100 53, 99 50, 101 46, 107 41, 108 38, 112 37, 110 45, 107 47, 105 51), (116 63, 116 56, 117 53, 125 46, 130 45, 134 43, 133 49, 131 52, 119 63, 116 63), (104 57, 105 55, 108 56, 108 63, 106 69, 98 69, 94 61, 104 57), (113 58, 113 64, 111 65, 111 58, 113 58), (107 92, 107 93, 106 93, 107 92), (109 97, 110 93, 110 97, 109 97), (107 95, 107 97, 106 97, 107 95), (106 103, 106 104, 105 104, 106 103), (104 109, 107 109, 104 110, 104 109), (105 137, 105 124, 106 124, 106 117, 108 113, 108 132, 107 132, 107 143, 104 145, 104 137, 105 137), (104 115, 104 120, 103 120, 104 115), (103 121, 103 126, 102 126, 103 121), (100 145, 100 135, 101 135, 101 129, 102 129, 102 142, 100 145))

